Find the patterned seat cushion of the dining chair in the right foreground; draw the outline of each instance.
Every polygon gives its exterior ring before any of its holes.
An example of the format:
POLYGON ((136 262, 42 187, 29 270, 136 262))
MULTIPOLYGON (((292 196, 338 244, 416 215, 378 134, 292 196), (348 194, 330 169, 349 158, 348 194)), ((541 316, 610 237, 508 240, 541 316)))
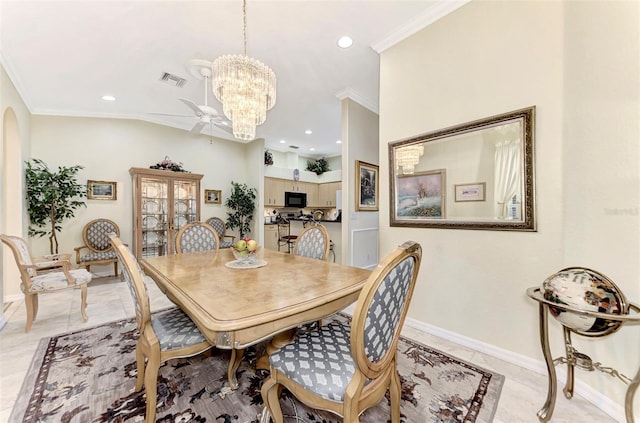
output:
POLYGON ((271 367, 305 389, 333 401, 343 401, 355 373, 350 328, 331 322, 320 330, 301 333, 271 354, 271 367))

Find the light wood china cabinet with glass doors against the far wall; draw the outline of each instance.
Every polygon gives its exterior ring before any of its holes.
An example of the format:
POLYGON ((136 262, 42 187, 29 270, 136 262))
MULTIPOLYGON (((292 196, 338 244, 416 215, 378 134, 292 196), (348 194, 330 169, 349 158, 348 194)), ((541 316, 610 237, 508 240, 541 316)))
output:
POLYGON ((133 249, 138 259, 175 253, 175 236, 200 220, 203 175, 129 169, 133 182, 133 249))

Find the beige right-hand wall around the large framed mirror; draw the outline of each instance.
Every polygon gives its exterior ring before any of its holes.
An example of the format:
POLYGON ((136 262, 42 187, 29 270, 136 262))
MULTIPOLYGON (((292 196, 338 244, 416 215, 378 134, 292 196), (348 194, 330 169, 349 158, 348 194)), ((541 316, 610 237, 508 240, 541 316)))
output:
MULTIPOLYGON (((640 301, 639 4, 473 1, 382 53, 381 163, 390 141, 537 108, 537 232, 390 228, 380 215, 382 255, 406 239, 424 248, 410 318, 542 360, 528 287, 581 265, 640 301)), ((633 376, 637 332, 576 344, 633 376)), ((578 379, 623 403, 610 376, 578 379)))

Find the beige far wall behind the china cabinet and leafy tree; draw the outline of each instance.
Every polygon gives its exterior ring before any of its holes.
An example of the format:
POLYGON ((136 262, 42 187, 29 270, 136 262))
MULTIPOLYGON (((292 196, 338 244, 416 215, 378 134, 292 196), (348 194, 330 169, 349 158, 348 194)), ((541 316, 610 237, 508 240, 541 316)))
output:
MULTIPOLYGON (((213 141, 205 135, 136 120, 33 116, 31 125, 32 157, 44 160, 50 168, 60 165, 84 166, 79 182, 88 179, 117 182, 117 200, 86 200, 87 207, 76 211, 75 218, 63 224, 58 235, 60 251, 73 252, 82 245, 82 228, 92 219, 107 217, 119 226, 124 242, 132 239, 132 186, 129 169, 148 168, 165 156, 183 162, 184 168, 204 174, 201 190, 222 190, 222 204, 204 204, 201 217, 226 218, 224 201, 231 190, 231 181, 256 185, 261 167, 243 166, 249 155, 248 145, 221 139, 213 141), (252 170, 253 169, 253 170, 252 170)), ((261 149, 260 149, 261 151, 261 149)), ((255 160, 255 159, 254 159, 255 160)), ((261 159, 259 159, 261 160, 261 159)), ((254 161, 255 162, 255 161, 254 161)), ((259 162, 259 161, 258 161, 259 162)), ((201 195, 203 195, 201 193, 201 195)), ((33 254, 48 253, 47 238, 31 239, 33 254)), ((94 271, 93 267, 91 269, 94 271)), ((108 273, 110 267, 96 267, 108 273)))

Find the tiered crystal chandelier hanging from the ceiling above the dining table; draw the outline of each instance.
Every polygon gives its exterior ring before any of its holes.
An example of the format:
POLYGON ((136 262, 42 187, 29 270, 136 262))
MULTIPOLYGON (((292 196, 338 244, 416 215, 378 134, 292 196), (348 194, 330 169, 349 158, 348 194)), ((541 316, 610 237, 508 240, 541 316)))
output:
POLYGON ((264 63, 247 56, 247 0, 242 2, 244 54, 225 54, 214 60, 212 90, 231 121, 233 136, 251 141, 256 125, 267 119, 276 104, 276 74, 264 63))

